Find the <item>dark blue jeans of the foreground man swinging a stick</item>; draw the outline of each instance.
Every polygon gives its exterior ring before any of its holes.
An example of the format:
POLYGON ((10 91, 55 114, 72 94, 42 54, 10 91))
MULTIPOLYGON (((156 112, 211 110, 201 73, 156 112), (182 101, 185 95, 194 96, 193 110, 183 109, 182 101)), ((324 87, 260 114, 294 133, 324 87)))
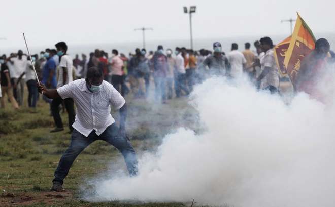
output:
POLYGON ((138 169, 138 160, 133 150, 130 141, 123 137, 117 137, 119 128, 116 123, 108 126, 107 129, 101 134, 95 134, 93 130, 88 137, 85 137, 77 130, 74 130, 71 136, 70 147, 64 152, 59 160, 58 167, 55 171, 55 178, 52 183, 63 184, 64 178, 68 175, 69 170, 75 161, 76 157, 91 143, 96 140, 104 140, 109 144, 116 147, 123 155, 129 175, 136 176, 138 169))

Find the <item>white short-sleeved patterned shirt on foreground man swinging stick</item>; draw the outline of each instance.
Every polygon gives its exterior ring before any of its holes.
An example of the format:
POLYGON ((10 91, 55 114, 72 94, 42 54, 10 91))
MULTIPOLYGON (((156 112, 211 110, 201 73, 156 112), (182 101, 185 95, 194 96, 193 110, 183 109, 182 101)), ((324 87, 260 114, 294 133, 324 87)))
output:
POLYGON ((111 105, 119 109, 125 104, 124 98, 109 82, 104 80, 102 85, 100 91, 92 93, 82 78, 57 89, 62 99, 74 99, 77 110, 72 127, 86 137, 93 129, 97 135, 101 135, 115 122, 111 115, 111 105))

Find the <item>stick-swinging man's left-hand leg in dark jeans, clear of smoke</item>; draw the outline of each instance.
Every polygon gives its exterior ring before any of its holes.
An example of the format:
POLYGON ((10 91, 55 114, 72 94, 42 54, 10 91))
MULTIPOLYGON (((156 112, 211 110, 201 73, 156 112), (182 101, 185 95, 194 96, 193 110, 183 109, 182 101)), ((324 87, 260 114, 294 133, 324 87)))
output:
POLYGON ((55 171, 55 178, 52 180, 52 183, 59 183, 63 185, 63 180, 68 175, 69 170, 77 158, 77 156, 95 139, 95 131, 92 131, 88 137, 80 134, 77 130, 74 130, 71 136, 71 144, 68 149, 64 152, 59 160, 58 167, 55 171))

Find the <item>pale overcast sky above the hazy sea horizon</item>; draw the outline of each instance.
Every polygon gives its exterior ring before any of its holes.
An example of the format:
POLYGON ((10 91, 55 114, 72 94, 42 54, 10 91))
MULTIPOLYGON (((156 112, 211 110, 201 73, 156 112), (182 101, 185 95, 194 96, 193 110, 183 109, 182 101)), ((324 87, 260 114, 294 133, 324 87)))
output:
MULTIPOLYGON (((142 41, 139 27, 151 27, 146 40, 187 39, 189 15, 183 7, 196 6, 192 14, 193 39, 233 36, 289 35, 296 11, 314 33, 334 33, 331 14, 335 2, 223 1, 223 0, 2 0, 1 48, 68 44, 129 43, 142 41)), ((294 24, 293 24, 294 27, 294 24)))

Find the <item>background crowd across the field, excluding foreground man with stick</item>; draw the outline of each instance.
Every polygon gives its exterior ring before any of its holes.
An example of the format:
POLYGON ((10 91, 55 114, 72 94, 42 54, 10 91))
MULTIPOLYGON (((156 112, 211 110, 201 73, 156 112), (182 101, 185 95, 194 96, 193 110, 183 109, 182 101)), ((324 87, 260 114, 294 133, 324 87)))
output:
MULTIPOLYGON (((200 49, 193 51, 185 47, 166 49, 159 45, 156 51, 146 49, 130 52, 128 57, 118 50, 109 53, 96 49, 87 57, 77 54, 72 59, 66 52, 67 45, 59 42, 54 49, 45 49, 40 54, 30 58, 19 50, 8 57, 0 57, 1 64, 1 107, 5 108, 5 99, 15 109, 23 105, 24 87, 28 89, 28 106, 36 107, 41 97, 37 90, 37 76, 47 88, 56 89, 75 79, 85 78, 90 67, 98 67, 103 71, 104 80, 122 95, 131 94, 134 98, 146 99, 149 96, 150 85, 153 85, 156 103, 166 103, 166 99, 187 96, 196 84, 212 75, 226 76, 238 79, 247 76, 261 90, 271 93, 279 91, 279 70, 274 57, 274 44, 270 37, 263 37, 251 44, 245 43, 244 50, 239 51, 236 43, 231 44, 231 50, 222 51, 219 42, 213 43, 213 51, 200 49), (31 62, 34 64, 32 66, 31 62), (7 98, 5 98, 7 95, 7 98)), ((299 79, 299 78, 298 78, 299 79)), ((51 132, 63 130, 59 110, 66 109, 69 114, 70 133, 75 120, 74 103, 72 99, 42 99, 50 104, 50 115, 54 117, 56 128, 51 132)))

